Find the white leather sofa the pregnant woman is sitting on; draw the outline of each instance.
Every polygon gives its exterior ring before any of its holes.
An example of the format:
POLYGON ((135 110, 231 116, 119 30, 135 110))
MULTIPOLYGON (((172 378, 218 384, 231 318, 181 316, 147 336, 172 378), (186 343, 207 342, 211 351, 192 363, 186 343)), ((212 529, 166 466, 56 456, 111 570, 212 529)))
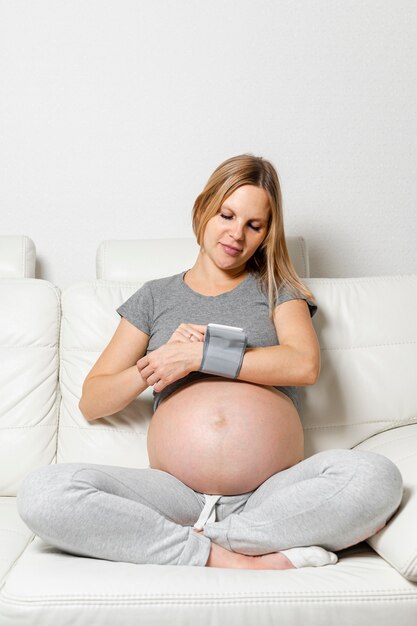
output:
POLYGON ((417 275, 308 278, 301 238, 290 254, 319 310, 316 385, 300 390, 306 455, 382 453, 404 497, 388 525, 322 568, 255 571, 135 565, 72 556, 34 537, 15 496, 48 464, 147 467, 147 390, 88 423, 83 380, 119 323, 117 306, 147 279, 190 267, 191 240, 101 244, 97 279, 60 289, 35 276, 27 237, 0 237, 1 626, 417 624, 417 275))

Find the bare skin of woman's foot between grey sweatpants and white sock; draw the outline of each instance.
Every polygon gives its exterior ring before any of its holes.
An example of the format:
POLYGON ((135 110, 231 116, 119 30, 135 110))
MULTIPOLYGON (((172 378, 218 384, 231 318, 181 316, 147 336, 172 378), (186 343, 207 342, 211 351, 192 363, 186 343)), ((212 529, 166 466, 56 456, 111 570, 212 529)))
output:
MULTIPOLYGON (((195 531, 203 532, 203 531, 195 531)), ((227 567, 237 569, 295 569, 286 556, 280 552, 271 552, 260 556, 250 556, 231 552, 217 543, 211 542, 210 554, 206 567, 227 567)))

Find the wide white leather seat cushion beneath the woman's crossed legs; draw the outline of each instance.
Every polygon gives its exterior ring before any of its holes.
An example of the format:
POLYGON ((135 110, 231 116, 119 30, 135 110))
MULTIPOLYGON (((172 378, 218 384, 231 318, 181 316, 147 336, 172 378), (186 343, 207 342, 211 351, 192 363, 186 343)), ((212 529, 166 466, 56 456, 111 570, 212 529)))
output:
POLYGON ((1 591, 0 623, 415 626, 415 583, 365 543, 339 557, 286 571, 135 565, 75 557, 36 537, 1 591))

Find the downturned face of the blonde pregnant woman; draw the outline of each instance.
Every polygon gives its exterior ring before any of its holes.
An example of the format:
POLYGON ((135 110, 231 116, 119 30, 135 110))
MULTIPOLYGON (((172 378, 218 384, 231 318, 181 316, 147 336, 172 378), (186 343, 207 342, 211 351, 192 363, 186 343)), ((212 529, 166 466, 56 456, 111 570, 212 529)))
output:
POLYGON ((243 268, 266 237, 269 213, 265 189, 255 185, 239 187, 207 222, 205 253, 222 269, 243 268))

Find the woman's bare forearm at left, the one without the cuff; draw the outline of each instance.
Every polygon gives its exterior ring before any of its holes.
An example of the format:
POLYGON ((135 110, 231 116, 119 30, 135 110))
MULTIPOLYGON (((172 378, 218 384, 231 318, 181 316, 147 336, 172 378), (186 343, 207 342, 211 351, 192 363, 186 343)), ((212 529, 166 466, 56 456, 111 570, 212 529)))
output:
POLYGON ((83 385, 79 408, 88 421, 121 411, 148 387, 136 365, 118 374, 93 376, 83 385))

